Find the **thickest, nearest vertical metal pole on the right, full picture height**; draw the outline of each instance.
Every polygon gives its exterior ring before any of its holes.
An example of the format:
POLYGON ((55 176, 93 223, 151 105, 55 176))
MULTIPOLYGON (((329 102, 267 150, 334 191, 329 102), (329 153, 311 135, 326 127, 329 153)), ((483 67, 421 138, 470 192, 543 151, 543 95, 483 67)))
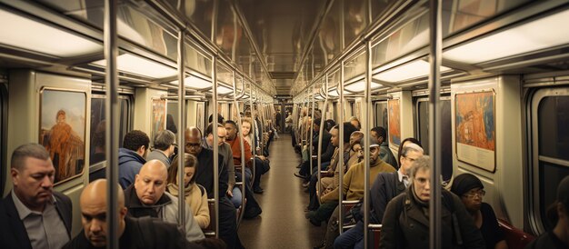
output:
POLYGON ((441 66, 442 35, 441 35, 441 0, 431 0, 430 2, 430 29, 429 35, 431 72, 429 76, 429 154, 431 155, 431 199, 429 201, 429 227, 430 246, 432 249, 441 248, 441 114, 440 110, 440 88, 441 88, 441 66))

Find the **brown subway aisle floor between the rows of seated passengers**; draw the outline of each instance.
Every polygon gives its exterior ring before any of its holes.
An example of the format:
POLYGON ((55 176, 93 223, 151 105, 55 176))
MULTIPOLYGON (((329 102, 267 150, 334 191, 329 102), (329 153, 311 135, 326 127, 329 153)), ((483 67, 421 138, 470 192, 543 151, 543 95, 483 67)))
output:
POLYGON ((239 237, 245 248, 313 248, 324 240, 326 224, 315 227, 304 218, 308 194, 294 176, 300 155, 294 153, 290 134, 280 134, 270 147, 271 170, 263 175, 263 194, 255 194, 263 214, 243 220, 239 237))

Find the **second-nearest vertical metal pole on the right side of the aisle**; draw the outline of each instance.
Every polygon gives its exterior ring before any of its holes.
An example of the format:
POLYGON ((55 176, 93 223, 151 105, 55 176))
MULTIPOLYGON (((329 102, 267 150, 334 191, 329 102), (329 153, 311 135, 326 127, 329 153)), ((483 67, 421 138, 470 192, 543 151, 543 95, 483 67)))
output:
POLYGON ((369 224, 369 171, 370 162, 369 158, 371 156, 369 145, 372 144, 370 130, 373 126, 371 119, 371 105, 372 105, 372 45, 370 41, 365 42, 365 92, 364 92, 364 248, 368 246, 369 229, 367 225, 369 224))

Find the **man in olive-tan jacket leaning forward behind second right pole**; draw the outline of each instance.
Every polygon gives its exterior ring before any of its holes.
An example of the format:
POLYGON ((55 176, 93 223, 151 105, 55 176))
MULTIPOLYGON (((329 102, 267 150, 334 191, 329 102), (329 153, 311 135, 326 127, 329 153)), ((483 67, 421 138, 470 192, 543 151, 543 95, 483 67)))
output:
MULTIPOLYGON (((371 144, 370 147, 370 158, 369 158, 369 165, 370 171, 368 175, 368 182, 372 184, 377 174, 380 173, 392 173, 395 172, 395 169, 392 165, 385 163, 379 158, 379 143, 377 139, 374 137, 370 137, 371 144)), ((360 144, 364 145, 364 139, 360 144)), ((364 154, 364 146, 362 146, 357 153, 364 154)), ((364 197, 364 173, 365 173, 365 161, 352 165, 350 169, 344 174, 344 181, 342 192, 345 200, 354 201, 359 200, 364 197)), ((334 244, 334 239, 339 234, 339 229, 337 225, 338 223, 338 188, 334 189, 334 191, 325 194, 322 197, 323 204, 320 207, 325 206, 328 203, 335 204, 335 209, 328 221, 328 229, 326 229, 326 238, 324 241, 324 248, 332 248, 334 244)))

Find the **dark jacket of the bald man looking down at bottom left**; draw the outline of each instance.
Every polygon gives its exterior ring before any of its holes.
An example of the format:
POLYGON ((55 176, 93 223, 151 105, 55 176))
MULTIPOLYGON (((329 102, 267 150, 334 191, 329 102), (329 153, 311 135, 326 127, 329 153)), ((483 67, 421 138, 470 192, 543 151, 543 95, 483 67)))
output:
MULTIPOLYGON (((125 217, 125 232, 119 239, 119 248, 202 248, 185 240, 184 235, 175 224, 165 223, 159 219, 145 217, 125 217)), ((95 247, 85 237, 85 230, 77 234, 72 241, 65 244, 71 248, 105 248, 95 247)))

